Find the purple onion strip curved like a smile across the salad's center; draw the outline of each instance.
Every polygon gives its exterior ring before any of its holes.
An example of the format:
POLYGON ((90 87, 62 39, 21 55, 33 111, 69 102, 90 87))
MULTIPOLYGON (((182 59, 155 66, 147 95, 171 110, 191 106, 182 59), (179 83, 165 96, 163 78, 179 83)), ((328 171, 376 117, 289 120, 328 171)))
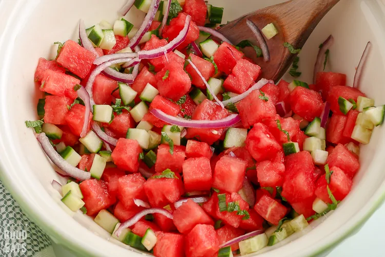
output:
POLYGON ((165 114, 160 109, 152 109, 150 113, 164 122, 182 127, 221 128, 232 126, 241 120, 238 114, 231 114, 220 120, 186 120, 165 114))

